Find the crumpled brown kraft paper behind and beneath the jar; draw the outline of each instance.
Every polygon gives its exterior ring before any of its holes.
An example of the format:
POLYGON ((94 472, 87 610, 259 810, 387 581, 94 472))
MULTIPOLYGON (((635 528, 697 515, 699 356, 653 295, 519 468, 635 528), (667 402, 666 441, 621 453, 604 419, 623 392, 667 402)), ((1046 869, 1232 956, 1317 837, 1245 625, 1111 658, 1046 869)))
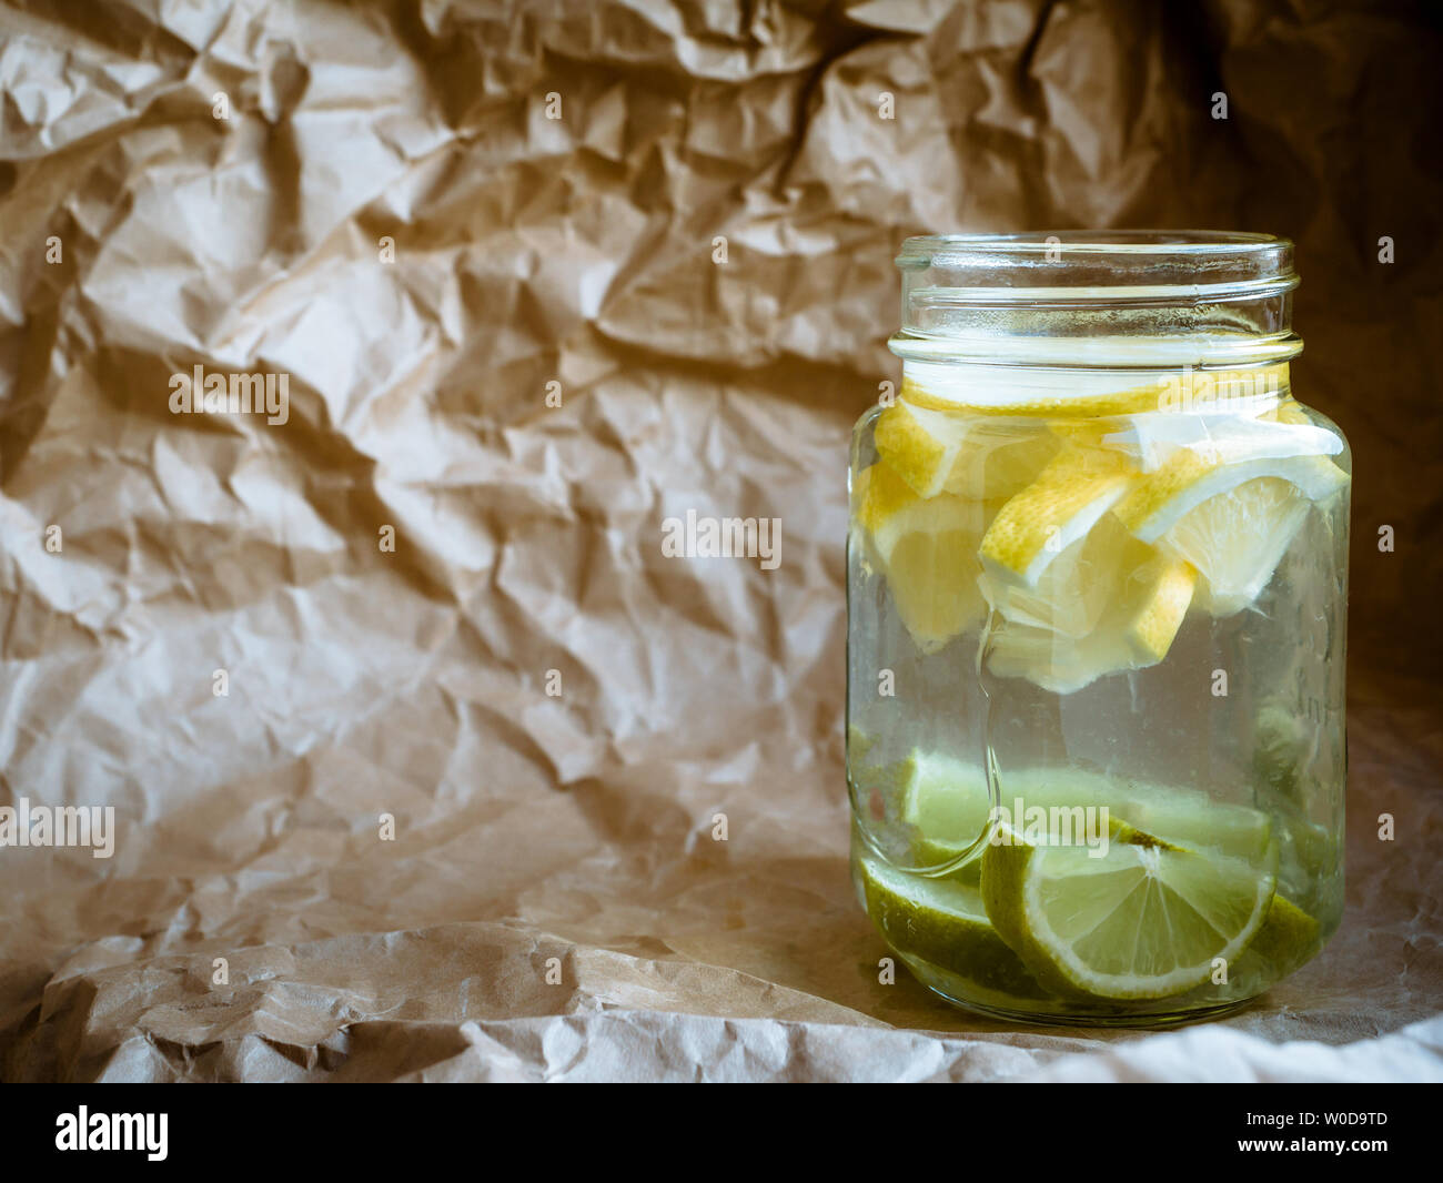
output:
POLYGON ((7 9, 0 789, 118 841, 0 850, 3 1076, 1443 1076, 1420 12, 7 9), (1293 235, 1297 390, 1356 449, 1348 918, 1175 1033, 880 985, 847 881, 892 255, 1089 224, 1293 235), (172 414, 195 365, 289 420, 172 414), (665 558, 687 509, 779 516, 779 568, 665 558))

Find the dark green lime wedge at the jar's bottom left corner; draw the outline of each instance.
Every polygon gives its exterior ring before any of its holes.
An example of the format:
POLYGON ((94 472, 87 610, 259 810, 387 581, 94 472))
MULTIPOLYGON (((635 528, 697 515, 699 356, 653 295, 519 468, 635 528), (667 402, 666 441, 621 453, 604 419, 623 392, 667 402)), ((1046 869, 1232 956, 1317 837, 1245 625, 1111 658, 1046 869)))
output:
POLYGON ((957 974, 970 995, 1046 997, 988 923, 975 887, 905 874, 873 858, 861 858, 859 870, 867 915, 898 952, 957 974))

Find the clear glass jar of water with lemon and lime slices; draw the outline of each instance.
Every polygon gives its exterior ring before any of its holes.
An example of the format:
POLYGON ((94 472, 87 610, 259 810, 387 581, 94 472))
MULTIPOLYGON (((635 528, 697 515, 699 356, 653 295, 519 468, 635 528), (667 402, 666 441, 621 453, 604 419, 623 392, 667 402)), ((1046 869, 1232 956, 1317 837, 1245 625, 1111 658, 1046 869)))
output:
POLYGON ((1167 1023, 1343 906, 1351 460, 1293 398, 1291 244, 911 238, 853 436, 853 879, 929 988, 1167 1023))

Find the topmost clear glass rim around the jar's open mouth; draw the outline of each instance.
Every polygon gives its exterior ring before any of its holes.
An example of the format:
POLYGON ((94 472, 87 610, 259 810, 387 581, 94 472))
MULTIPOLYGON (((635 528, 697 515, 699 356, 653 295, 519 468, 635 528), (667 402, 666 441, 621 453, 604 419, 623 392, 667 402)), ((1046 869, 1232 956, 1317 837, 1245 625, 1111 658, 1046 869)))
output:
POLYGON ((1214 229, 922 235, 896 264, 918 307, 1229 303, 1299 283, 1289 239, 1214 229))

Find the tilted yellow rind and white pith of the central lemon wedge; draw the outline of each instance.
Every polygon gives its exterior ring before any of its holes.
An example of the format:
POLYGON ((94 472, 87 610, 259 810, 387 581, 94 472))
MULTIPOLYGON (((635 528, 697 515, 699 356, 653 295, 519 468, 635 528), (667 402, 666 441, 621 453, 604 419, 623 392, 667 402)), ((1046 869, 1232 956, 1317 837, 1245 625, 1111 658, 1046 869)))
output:
POLYGON ((988 576, 1003 584, 1036 587, 1048 566, 1085 537, 1128 493, 1133 480, 1121 453, 1063 447, 987 527, 980 555, 988 576))

